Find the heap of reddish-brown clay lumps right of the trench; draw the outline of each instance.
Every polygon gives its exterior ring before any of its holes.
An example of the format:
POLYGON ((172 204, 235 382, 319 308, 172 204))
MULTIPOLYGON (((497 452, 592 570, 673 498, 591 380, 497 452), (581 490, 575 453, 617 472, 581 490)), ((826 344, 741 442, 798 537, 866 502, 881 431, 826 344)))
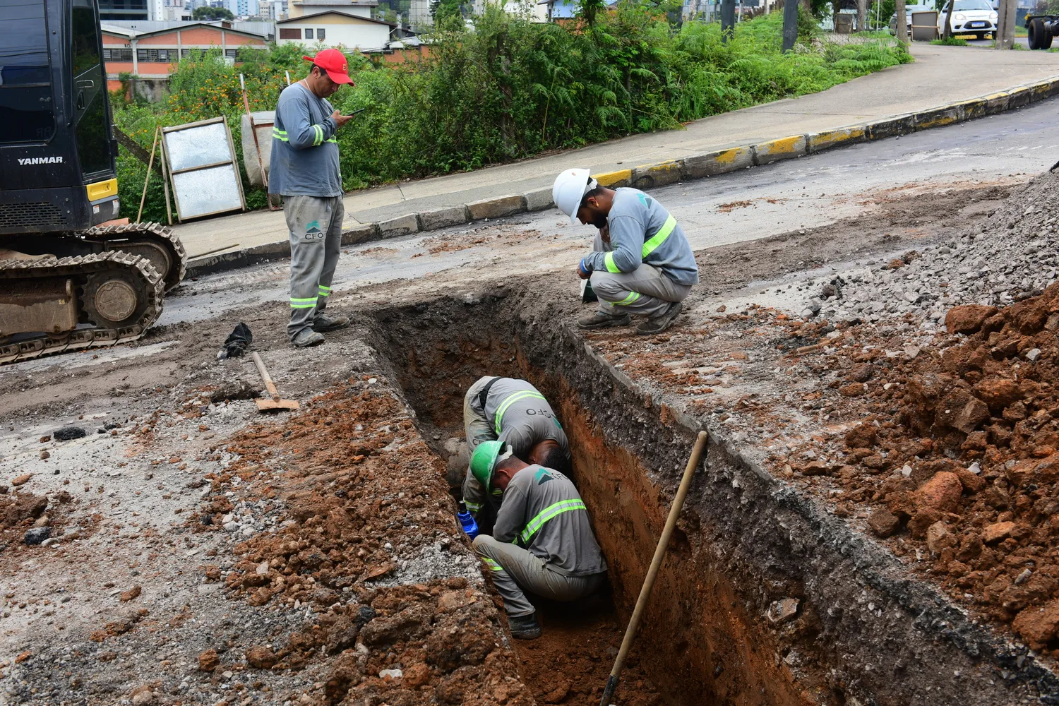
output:
POLYGON ((945 323, 914 356, 831 356, 826 390, 860 423, 771 468, 1059 658, 1059 284, 1003 308, 954 307, 945 323))

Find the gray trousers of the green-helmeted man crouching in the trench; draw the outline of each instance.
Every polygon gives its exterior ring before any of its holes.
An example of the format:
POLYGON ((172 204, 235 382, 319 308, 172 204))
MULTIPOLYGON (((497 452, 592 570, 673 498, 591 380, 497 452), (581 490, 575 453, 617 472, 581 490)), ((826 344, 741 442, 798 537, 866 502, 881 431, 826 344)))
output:
POLYGON ((536 610, 522 589, 564 602, 593 593, 607 575, 604 572, 590 576, 566 576, 549 568, 543 559, 533 556, 528 549, 509 542, 498 542, 488 535, 474 538, 474 551, 489 567, 492 583, 504 599, 504 610, 511 617, 530 615, 536 610))

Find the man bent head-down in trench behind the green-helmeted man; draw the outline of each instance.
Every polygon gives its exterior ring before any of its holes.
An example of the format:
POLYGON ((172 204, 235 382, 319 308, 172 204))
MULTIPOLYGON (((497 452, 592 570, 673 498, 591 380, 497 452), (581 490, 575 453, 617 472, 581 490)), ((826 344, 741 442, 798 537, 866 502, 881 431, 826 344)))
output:
MULTIPOLYGON (((519 458, 560 473, 570 472, 570 443, 552 405, 525 380, 484 376, 464 397, 468 451, 483 441, 508 443, 519 458)), ((488 528, 500 509, 503 490, 490 492, 467 468, 463 497, 479 525, 488 528)))

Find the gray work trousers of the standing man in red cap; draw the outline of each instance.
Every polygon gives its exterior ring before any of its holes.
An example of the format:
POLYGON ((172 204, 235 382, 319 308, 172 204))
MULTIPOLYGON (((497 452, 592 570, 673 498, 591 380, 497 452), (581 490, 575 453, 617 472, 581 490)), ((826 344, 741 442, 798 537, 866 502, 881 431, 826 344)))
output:
POLYGON ((312 326, 327 306, 342 248, 341 196, 284 196, 283 215, 290 231, 290 323, 293 341, 312 326))

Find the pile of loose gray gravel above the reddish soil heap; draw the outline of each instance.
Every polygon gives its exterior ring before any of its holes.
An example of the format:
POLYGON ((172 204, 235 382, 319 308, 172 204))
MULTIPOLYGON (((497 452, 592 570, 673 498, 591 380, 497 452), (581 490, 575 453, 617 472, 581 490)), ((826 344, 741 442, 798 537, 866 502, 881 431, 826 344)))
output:
MULTIPOLYGON (((940 325, 953 304, 1004 306, 1039 294, 1059 276, 1059 171, 1045 173, 963 233, 797 286, 805 319, 878 322, 913 313, 940 325)), ((797 289, 795 291, 797 291, 797 289)))

